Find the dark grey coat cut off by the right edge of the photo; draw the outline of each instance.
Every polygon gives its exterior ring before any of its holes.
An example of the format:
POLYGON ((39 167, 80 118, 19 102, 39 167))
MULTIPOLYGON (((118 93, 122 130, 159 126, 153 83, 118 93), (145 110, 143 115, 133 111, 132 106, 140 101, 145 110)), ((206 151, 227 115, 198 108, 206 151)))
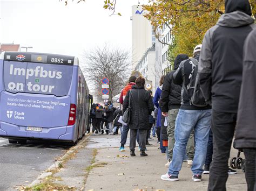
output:
POLYGON ((242 86, 238 108, 235 148, 256 148, 256 29, 244 47, 242 86))

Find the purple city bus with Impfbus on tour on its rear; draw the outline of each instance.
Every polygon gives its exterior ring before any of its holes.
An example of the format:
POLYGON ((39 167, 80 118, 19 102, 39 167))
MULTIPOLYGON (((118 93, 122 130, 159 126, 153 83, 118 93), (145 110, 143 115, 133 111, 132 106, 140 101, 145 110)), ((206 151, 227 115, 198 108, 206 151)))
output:
POLYGON ((0 73, 0 137, 73 145, 85 135, 92 96, 76 57, 2 52, 0 73))

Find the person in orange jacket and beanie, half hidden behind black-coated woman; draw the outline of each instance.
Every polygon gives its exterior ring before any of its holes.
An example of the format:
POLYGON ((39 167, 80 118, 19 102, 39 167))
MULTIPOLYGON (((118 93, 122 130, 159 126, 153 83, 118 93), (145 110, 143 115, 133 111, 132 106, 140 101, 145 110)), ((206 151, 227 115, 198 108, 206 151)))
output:
MULTIPOLYGON (((122 92, 120 94, 120 97, 119 97, 120 104, 124 103, 124 99, 125 99, 127 92, 130 91, 132 89, 132 87, 136 85, 136 83, 135 83, 136 79, 137 79, 136 76, 129 77, 129 83, 124 87, 124 89, 122 90, 122 92)), ((121 135, 121 142, 120 142, 121 146, 119 147, 119 151, 125 151, 124 145, 126 143, 129 130, 130 130, 130 128, 128 125, 123 125, 123 132, 121 135)))

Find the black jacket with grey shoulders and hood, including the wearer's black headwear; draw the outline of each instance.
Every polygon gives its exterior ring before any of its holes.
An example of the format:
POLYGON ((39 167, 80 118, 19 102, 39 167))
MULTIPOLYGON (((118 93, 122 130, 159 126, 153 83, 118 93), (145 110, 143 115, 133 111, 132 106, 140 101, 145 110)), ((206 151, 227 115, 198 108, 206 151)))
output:
POLYGON ((242 80, 242 52, 255 27, 248 0, 226 0, 226 13, 205 34, 200 53, 199 84, 212 109, 237 113, 242 80))

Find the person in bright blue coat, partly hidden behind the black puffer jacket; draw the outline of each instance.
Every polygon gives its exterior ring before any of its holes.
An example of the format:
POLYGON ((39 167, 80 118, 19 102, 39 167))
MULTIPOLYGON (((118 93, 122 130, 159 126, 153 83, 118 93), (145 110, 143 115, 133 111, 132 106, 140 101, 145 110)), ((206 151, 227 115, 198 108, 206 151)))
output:
MULTIPOLYGON (((156 128, 161 128, 161 118, 164 118, 164 116, 162 116, 161 109, 159 108, 159 100, 161 98, 164 77, 165 77, 165 75, 161 76, 160 82, 159 82, 159 87, 157 88, 156 93, 154 94, 154 99, 153 99, 153 103, 158 109, 156 128)), ((163 146, 161 137, 160 137, 160 149, 161 149, 162 153, 165 153, 165 147, 163 146)))

